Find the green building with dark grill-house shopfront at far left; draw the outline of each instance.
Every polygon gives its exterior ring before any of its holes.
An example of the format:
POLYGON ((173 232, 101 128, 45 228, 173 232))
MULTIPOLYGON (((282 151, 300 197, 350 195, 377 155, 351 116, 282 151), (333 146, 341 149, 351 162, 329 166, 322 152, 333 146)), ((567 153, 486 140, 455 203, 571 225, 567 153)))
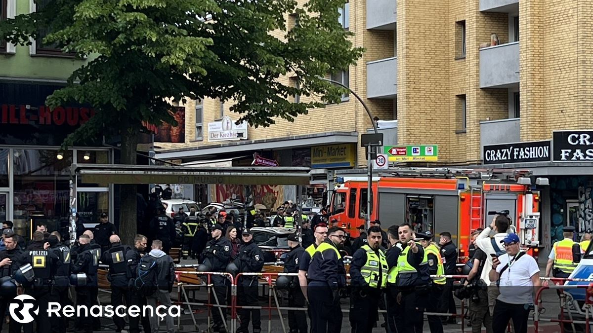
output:
MULTIPOLYGON (((44 3, 0 0, 0 20, 35 11, 44 3)), ((84 105, 50 109, 46 98, 87 60, 44 44, 43 36, 31 46, 0 43, 0 220, 12 220, 23 235, 37 222, 50 230, 68 227, 73 162, 113 162, 113 151, 100 144, 60 151, 63 139, 94 111, 84 105)), ((78 185, 78 213, 98 222, 105 212, 113 221, 113 187, 78 185)))

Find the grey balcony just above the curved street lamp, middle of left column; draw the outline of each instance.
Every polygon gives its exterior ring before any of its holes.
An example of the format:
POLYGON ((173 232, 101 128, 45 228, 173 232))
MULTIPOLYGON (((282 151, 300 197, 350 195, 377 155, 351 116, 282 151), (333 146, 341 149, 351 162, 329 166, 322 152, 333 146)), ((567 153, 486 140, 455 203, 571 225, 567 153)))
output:
POLYGON ((366 63, 366 97, 397 97, 397 57, 366 63))

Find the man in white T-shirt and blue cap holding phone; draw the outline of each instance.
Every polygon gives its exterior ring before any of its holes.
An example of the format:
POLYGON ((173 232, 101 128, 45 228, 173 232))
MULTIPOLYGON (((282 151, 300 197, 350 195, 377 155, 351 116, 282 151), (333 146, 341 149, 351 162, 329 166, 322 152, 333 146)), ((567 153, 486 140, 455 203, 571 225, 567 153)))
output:
POLYGON ((531 255, 520 251, 519 237, 509 233, 502 240, 506 255, 492 258, 491 281, 498 281, 500 294, 492 316, 492 331, 504 333, 513 320, 515 333, 527 332, 527 320, 534 295, 541 286, 540 267, 531 255))

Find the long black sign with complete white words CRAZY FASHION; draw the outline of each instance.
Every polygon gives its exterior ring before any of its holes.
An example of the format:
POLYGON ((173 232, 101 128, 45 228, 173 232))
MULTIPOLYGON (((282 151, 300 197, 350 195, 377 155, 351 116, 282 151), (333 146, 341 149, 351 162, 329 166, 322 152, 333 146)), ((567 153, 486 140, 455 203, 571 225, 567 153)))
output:
POLYGON ((484 146, 484 164, 550 161, 550 141, 484 146))

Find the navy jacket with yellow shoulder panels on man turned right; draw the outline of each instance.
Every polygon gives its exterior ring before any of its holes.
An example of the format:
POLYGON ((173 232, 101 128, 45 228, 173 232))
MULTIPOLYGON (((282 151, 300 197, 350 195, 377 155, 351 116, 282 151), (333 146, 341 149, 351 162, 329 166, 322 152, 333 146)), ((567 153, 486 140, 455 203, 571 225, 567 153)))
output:
MULTIPOLYGON (((307 275, 311 282, 328 284, 332 289, 346 286, 346 269, 341 256, 338 257, 336 245, 326 239, 323 241, 331 246, 323 252, 315 251, 307 275)), ((321 246, 321 245, 320 245, 321 246)))

